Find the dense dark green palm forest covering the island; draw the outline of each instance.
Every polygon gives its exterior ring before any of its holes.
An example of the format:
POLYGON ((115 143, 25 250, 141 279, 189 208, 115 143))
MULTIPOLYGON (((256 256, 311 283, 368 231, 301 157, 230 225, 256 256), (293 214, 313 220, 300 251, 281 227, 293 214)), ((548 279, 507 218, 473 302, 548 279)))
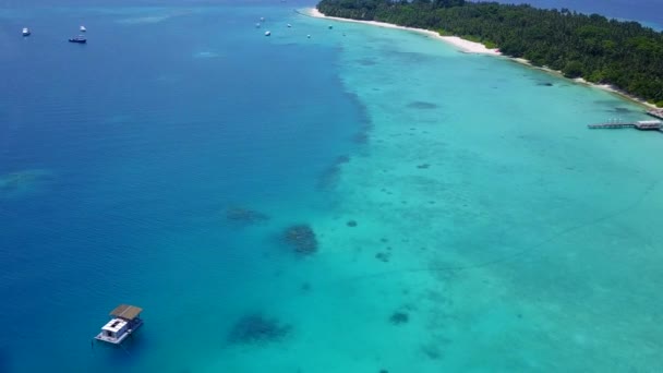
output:
POLYGON ((637 22, 567 9, 465 0, 322 0, 330 16, 381 21, 458 35, 498 47, 506 56, 612 84, 663 106, 663 34, 637 22))

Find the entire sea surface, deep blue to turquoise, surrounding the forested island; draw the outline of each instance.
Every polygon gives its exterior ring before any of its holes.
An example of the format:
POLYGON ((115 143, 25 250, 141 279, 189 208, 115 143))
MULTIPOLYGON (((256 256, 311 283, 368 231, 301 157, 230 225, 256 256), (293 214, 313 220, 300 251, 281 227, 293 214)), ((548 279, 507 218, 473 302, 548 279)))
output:
POLYGON ((3 12, 0 371, 660 370, 663 136, 586 129, 640 107, 293 5, 3 12))

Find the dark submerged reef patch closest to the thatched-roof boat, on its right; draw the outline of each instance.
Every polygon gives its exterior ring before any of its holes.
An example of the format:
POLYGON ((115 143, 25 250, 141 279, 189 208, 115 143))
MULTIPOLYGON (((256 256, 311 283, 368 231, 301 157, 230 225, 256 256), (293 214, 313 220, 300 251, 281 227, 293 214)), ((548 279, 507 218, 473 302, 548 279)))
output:
POLYGON ((290 334, 291 329, 290 325, 281 324, 276 318, 252 313, 234 323, 228 334, 228 342, 249 345, 279 341, 290 334))

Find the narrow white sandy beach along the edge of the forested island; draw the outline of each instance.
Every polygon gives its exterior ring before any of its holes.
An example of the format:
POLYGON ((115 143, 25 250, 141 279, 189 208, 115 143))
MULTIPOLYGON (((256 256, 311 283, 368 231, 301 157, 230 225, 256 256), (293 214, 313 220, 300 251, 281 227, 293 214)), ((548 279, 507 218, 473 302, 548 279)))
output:
POLYGON ((595 84, 595 83, 591 83, 586 81, 582 77, 577 77, 577 79, 568 79, 566 76, 564 76, 564 74, 562 73, 562 71, 557 71, 557 70, 552 70, 545 67, 535 67, 533 65, 529 60, 526 60, 523 58, 516 58, 516 57, 508 57, 508 56, 504 56, 502 52, 499 52, 498 48, 494 48, 494 49, 489 49, 486 48, 483 44, 481 43, 477 43, 477 41, 470 41, 470 40, 466 40, 461 37, 458 36, 442 36, 436 32, 430 31, 430 29, 423 29, 423 28, 414 28, 414 27, 406 27, 406 26, 399 26, 399 25, 395 25, 391 23, 386 23, 386 22, 377 22, 377 21, 360 21, 360 20, 351 20, 351 19, 341 19, 341 17, 337 17, 337 16, 328 16, 325 15, 323 13, 321 13, 317 8, 306 8, 304 10, 304 13, 306 15, 310 15, 312 17, 315 19, 325 19, 325 20, 333 20, 333 21, 341 21, 341 22, 350 22, 350 23, 361 23, 361 24, 365 24, 365 25, 371 25, 371 26, 378 26, 378 27, 385 27, 385 28, 395 28, 395 29, 405 29, 405 31, 410 31, 410 32, 414 32, 414 33, 419 33, 419 34, 423 34, 423 35, 427 35, 431 36, 433 38, 439 39, 442 41, 445 41, 449 45, 453 45, 455 47, 457 47, 458 49, 461 50, 461 52, 465 53, 471 53, 471 55, 489 55, 489 56, 501 56, 504 57, 508 60, 511 60, 514 62, 530 67, 532 69, 538 69, 544 72, 547 72, 550 74, 556 75, 557 77, 563 77, 569 81, 572 81, 575 83, 578 84, 582 84, 586 86, 590 86, 593 88, 598 88, 604 92, 608 92, 612 93, 614 95, 617 95, 624 99, 627 99, 634 104, 640 105, 644 108, 648 109, 660 109, 659 107, 656 107, 653 104, 647 103, 646 100, 638 98, 636 96, 629 95, 628 93, 620 91, 618 88, 615 88, 613 85, 610 84, 595 84))

